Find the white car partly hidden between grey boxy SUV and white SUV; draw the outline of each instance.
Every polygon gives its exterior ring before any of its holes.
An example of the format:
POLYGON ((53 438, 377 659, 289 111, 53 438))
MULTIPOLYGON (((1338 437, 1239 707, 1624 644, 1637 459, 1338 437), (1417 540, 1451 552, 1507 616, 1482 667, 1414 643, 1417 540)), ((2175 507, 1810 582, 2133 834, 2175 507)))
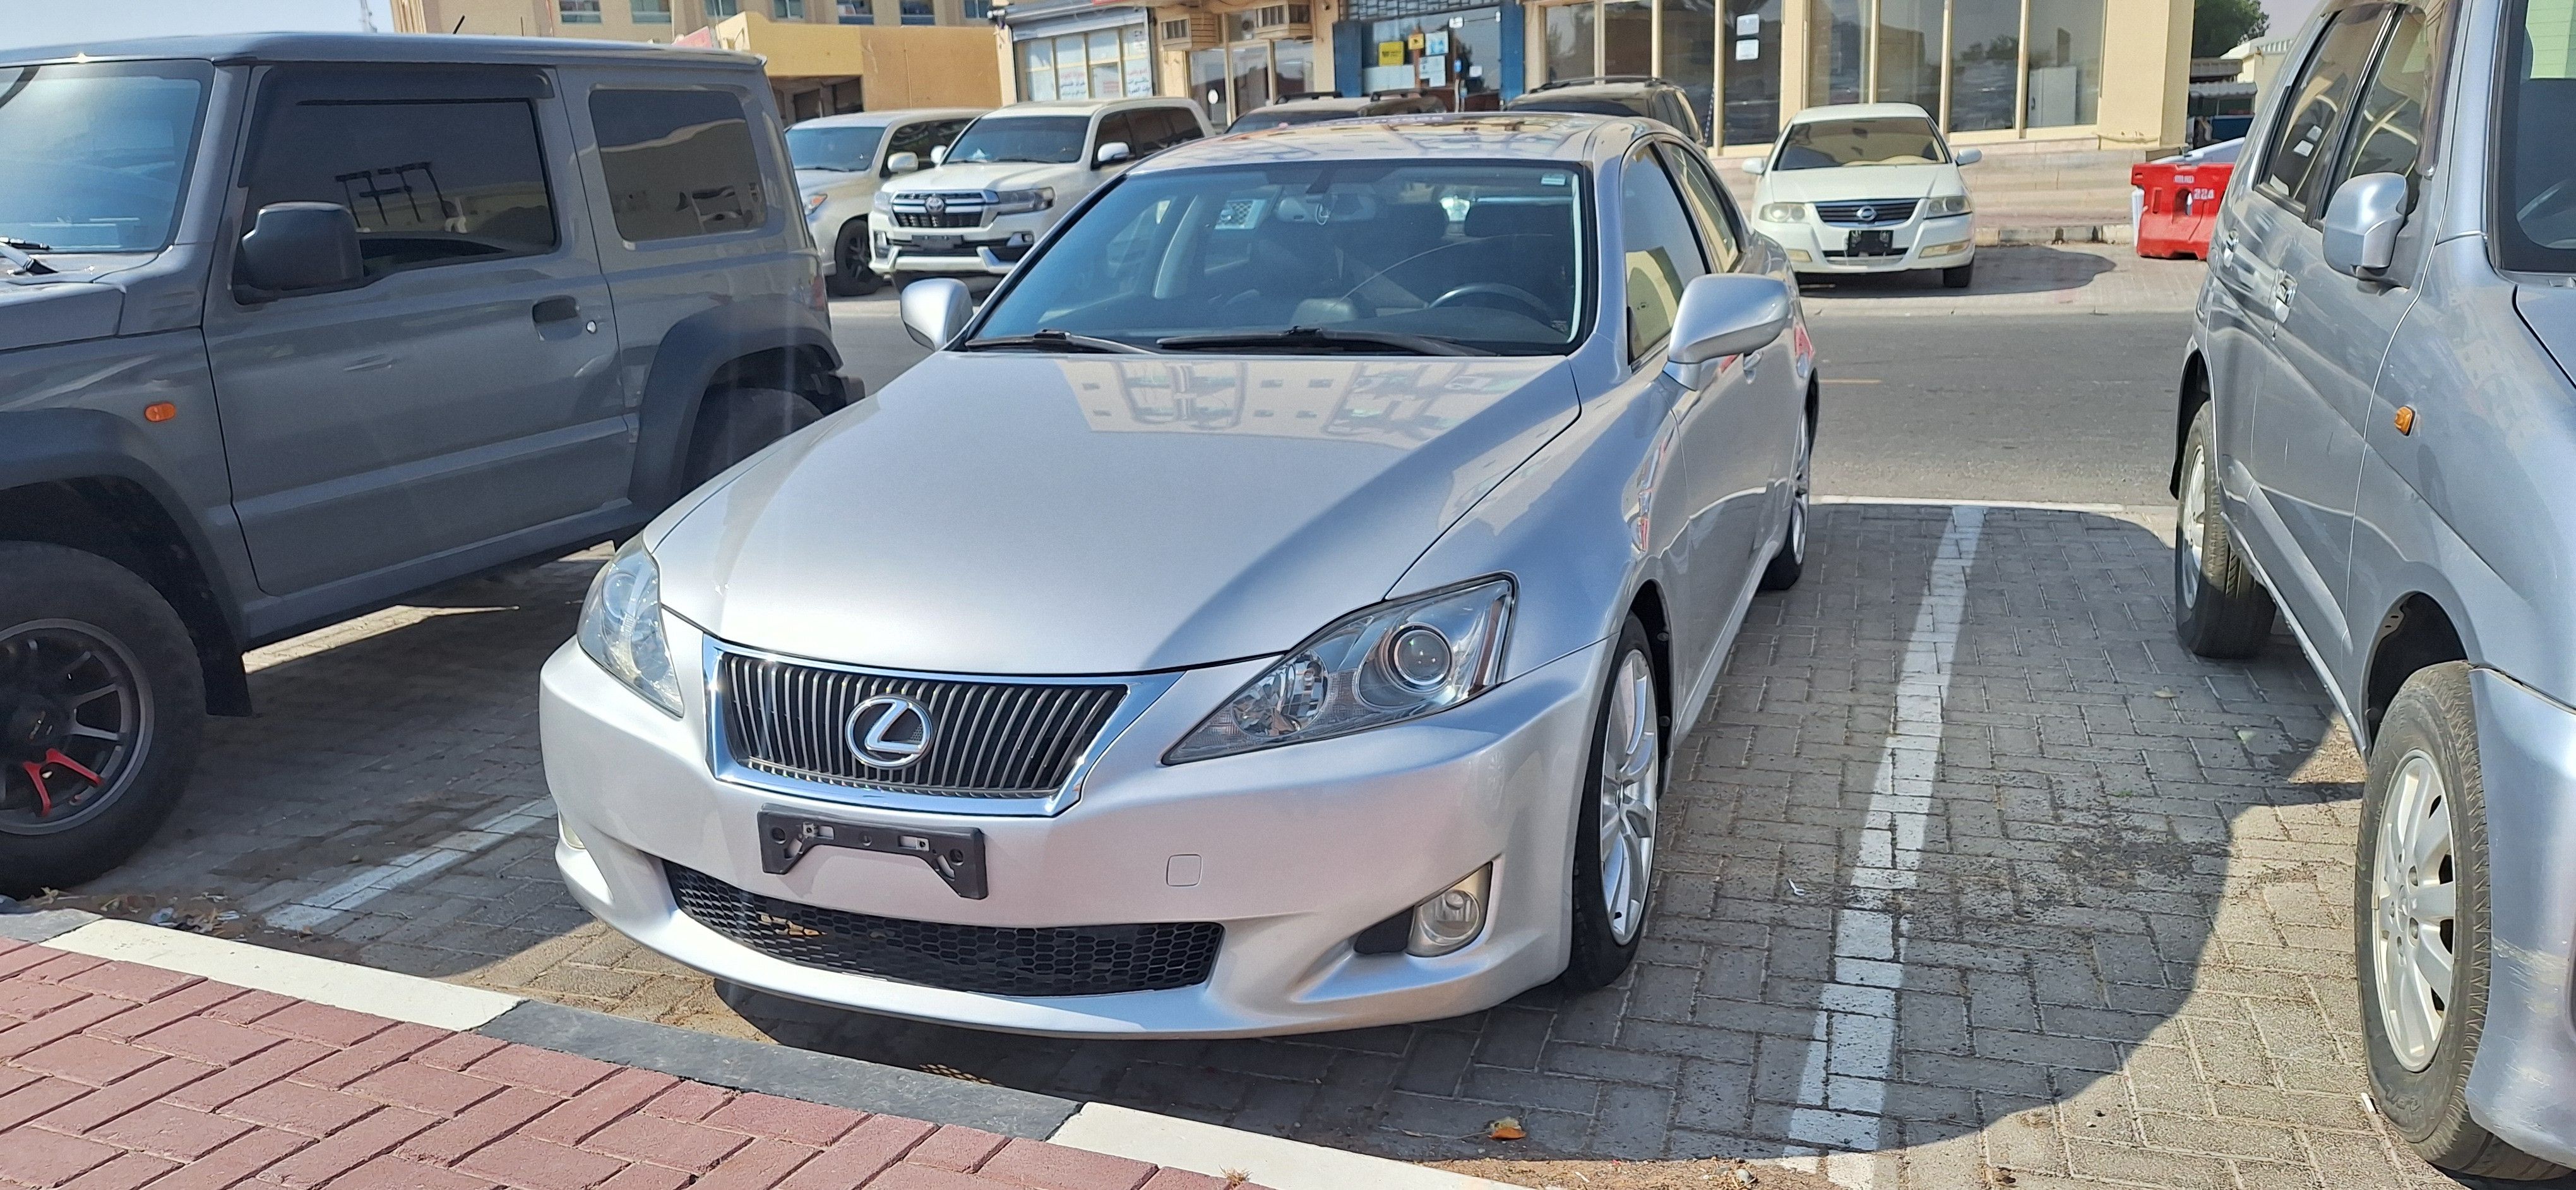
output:
POLYGON ((817 245, 829 245, 832 296, 876 294, 886 278, 868 268, 868 211, 876 188, 917 173, 945 152, 984 108, 909 108, 819 116, 788 129, 788 160, 804 193, 806 224, 817 245))

